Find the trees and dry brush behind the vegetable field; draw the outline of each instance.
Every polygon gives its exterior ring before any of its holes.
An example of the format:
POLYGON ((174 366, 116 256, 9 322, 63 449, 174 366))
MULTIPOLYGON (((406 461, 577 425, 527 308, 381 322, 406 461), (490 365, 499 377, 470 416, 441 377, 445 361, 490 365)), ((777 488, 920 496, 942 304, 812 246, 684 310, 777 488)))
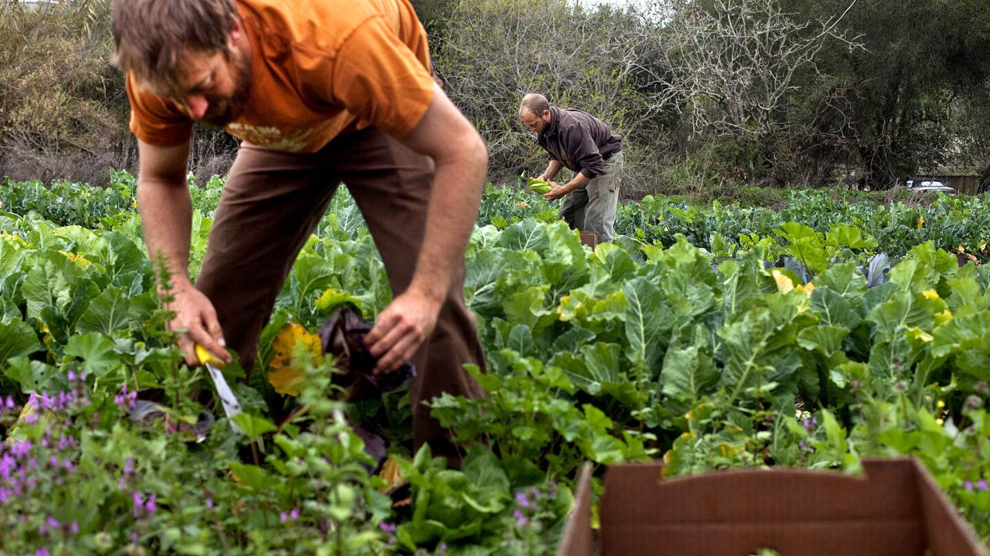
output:
MULTIPOLYGON (((726 183, 886 189, 940 166, 990 179, 981 0, 413 3, 497 181, 545 164, 517 122, 530 91, 626 137, 628 198, 726 183), (758 32, 770 23, 780 41, 758 32), (732 41, 720 30, 735 30, 732 41), (777 43, 813 47, 797 56, 768 47, 777 43), (708 83, 689 78, 729 44, 745 63, 715 63, 700 75, 708 83), (785 86, 768 82, 782 75, 785 86), (767 91, 772 103, 753 103, 767 91)), ((108 183, 108 166, 134 168, 123 80, 109 65, 109 0, 3 0, 0 27, 0 174, 108 183)), ((233 139, 199 130, 191 168, 223 174, 235 151, 233 139)))

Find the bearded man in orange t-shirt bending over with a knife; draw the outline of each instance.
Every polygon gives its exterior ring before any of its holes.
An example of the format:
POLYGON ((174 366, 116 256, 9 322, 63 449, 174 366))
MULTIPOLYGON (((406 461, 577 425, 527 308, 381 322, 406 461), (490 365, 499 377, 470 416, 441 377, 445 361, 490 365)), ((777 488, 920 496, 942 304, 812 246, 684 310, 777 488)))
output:
POLYGON ((436 85, 408 0, 115 0, 148 250, 175 286, 171 323, 250 372, 292 262, 347 184, 394 293, 368 333, 378 371, 409 360, 413 436, 458 460, 422 405, 477 396, 483 365, 463 300, 463 254, 487 165, 477 132, 436 85), (188 275, 185 182, 193 123, 242 139, 203 268, 188 275))

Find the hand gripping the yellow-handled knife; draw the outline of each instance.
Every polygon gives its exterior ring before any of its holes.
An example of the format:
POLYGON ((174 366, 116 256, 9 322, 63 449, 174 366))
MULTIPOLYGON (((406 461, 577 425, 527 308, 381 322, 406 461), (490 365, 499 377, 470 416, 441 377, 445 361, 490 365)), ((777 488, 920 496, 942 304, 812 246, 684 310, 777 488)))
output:
POLYGON ((174 300, 165 307, 175 312, 175 319, 168 323, 168 329, 179 332, 179 349, 185 355, 186 364, 190 367, 199 365, 194 349, 196 343, 225 363, 233 361, 224 347, 224 331, 210 300, 191 284, 177 288, 173 296, 174 300))

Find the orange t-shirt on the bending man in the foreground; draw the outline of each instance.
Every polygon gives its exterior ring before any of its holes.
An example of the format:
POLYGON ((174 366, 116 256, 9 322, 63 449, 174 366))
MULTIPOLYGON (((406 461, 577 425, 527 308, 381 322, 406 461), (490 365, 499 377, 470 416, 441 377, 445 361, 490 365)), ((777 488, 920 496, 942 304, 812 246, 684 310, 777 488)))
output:
MULTIPOLYGON (((316 152, 373 126, 402 138, 433 101, 426 31, 409 0, 238 0, 251 45, 250 98, 227 132, 316 152)), ((150 144, 189 139, 182 106, 127 78, 131 131, 150 144)))

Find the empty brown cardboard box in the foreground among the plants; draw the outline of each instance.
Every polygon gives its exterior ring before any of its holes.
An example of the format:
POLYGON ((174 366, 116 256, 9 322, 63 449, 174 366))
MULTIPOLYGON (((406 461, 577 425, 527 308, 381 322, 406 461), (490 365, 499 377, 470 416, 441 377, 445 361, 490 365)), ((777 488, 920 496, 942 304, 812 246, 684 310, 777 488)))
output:
POLYGON ((557 556, 987 554, 917 460, 867 459, 863 468, 865 477, 773 469, 662 479, 659 462, 613 465, 596 543, 585 464, 557 556))

